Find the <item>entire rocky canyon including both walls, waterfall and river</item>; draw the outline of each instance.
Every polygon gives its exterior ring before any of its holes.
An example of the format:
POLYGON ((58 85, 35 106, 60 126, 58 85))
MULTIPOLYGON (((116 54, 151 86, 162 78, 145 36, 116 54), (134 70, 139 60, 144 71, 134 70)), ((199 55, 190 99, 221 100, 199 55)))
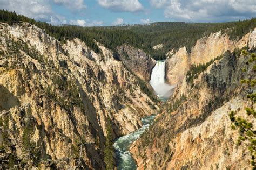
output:
POLYGON ((256 125, 244 110, 256 89, 240 83, 256 77, 241 54, 255 53, 256 28, 235 40, 212 32, 166 60, 96 40, 95 52, 26 22, 1 22, 0 41, 1 168, 106 169, 108 140, 117 169, 251 167, 228 114, 256 125), (192 66, 207 63, 188 81, 192 66))

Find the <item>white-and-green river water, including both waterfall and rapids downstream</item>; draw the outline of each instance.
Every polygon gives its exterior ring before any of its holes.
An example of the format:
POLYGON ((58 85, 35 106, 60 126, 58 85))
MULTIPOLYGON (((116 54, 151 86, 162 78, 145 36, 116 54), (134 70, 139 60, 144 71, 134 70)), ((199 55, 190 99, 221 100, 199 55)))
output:
MULTIPOLYGON (((157 61, 156 65, 152 69, 150 84, 156 92, 156 95, 162 101, 166 101, 173 93, 175 86, 170 86, 169 84, 165 83, 165 61, 157 61)), ((151 115, 142 118, 142 128, 114 140, 113 147, 117 155, 117 169, 130 170, 137 168, 136 161, 132 158, 129 151, 130 146, 140 137, 140 135, 142 135, 143 132, 145 132, 147 128, 149 128, 149 125, 152 123, 155 117, 156 115, 151 115)))

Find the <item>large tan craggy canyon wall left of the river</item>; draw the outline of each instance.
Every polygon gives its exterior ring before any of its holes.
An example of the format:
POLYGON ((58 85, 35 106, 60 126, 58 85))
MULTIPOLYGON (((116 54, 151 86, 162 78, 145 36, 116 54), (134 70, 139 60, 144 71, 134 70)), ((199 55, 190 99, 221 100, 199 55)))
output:
POLYGON ((107 120, 114 139, 140 128, 140 119, 155 112, 138 77, 100 44, 100 53, 79 39, 61 44, 28 23, 1 23, 0 40, 5 168, 104 169, 107 120))

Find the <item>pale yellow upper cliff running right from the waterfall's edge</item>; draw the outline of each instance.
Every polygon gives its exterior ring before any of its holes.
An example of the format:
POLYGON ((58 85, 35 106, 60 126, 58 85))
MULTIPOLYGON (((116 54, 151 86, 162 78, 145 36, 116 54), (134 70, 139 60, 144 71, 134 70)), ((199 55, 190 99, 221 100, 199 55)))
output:
POLYGON ((206 63, 226 51, 232 52, 235 48, 241 49, 247 46, 248 41, 255 41, 253 39, 255 33, 256 30, 247 33, 240 40, 230 40, 229 36, 223 30, 220 30, 211 33, 208 37, 197 40, 189 54, 185 47, 180 48, 176 53, 173 50, 170 51, 167 53, 168 58, 166 60, 166 81, 170 84, 182 82, 192 64, 206 63))

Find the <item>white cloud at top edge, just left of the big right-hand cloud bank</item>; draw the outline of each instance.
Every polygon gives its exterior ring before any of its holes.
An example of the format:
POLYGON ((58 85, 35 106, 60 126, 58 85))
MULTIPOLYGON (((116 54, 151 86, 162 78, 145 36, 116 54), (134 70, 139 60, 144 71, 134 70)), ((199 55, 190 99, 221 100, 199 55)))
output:
POLYGON ((97 0, 103 8, 113 11, 138 12, 142 11, 143 5, 138 0, 97 0))

